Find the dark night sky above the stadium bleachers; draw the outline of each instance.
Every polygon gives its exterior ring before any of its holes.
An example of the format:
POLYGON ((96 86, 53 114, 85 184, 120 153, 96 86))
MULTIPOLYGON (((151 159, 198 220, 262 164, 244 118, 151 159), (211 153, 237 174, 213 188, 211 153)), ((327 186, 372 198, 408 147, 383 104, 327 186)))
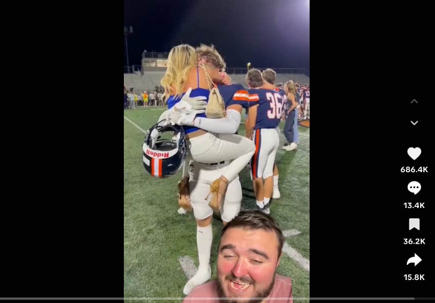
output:
MULTIPOLYGON (((227 67, 309 69, 309 0, 124 0, 129 64, 143 50, 214 44, 227 67)), ((124 47, 124 66, 125 39, 124 47)))

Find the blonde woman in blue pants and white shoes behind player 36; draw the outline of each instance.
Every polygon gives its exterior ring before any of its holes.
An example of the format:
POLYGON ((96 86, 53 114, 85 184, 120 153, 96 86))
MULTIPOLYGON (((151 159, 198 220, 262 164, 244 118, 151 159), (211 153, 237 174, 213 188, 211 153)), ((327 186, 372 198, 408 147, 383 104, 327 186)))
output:
POLYGON ((286 151, 291 151, 296 149, 297 144, 295 143, 295 131, 297 131, 297 125, 295 126, 296 116, 296 86, 293 81, 288 81, 284 84, 284 91, 287 94, 287 102, 289 104, 288 109, 286 109, 286 124, 284 125, 284 136, 286 137, 289 145, 282 147, 286 151))

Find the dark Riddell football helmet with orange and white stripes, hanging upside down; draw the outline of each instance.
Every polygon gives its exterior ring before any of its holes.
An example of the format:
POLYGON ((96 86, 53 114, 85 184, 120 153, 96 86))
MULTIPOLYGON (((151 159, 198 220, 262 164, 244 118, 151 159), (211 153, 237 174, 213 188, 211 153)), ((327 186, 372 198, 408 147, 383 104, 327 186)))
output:
POLYGON ((167 178, 174 175, 183 165, 187 154, 186 134, 183 127, 155 124, 147 131, 142 150, 143 166, 151 176, 167 178), (154 142, 151 134, 153 130, 154 142), (172 139, 162 139, 161 134, 169 131, 173 132, 172 139), (157 132, 158 136, 156 136, 157 132))

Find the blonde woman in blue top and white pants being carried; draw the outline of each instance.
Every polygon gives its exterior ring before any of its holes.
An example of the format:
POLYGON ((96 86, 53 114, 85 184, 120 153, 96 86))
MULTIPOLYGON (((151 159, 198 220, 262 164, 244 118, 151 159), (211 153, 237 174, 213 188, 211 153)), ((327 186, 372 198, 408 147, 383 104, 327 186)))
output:
MULTIPOLYGON (((182 44, 172 48, 168 55, 167 70, 161 80, 165 89, 164 96, 169 96, 167 104, 172 121, 180 125, 179 119, 191 122, 197 116, 205 118, 203 112, 189 111, 190 109, 180 112, 172 108, 177 108, 176 105, 182 101, 182 96, 189 87, 196 87, 191 89, 192 97, 205 96, 208 99, 208 78, 217 83, 225 81, 219 68, 198 61, 197 53, 192 46, 182 44)), ((255 152, 255 146, 245 137, 235 134, 216 135, 205 131, 204 127, 197 124, 185 126, 184 129, 188 137, 189 156, 194 161, 212 164, 232 160, 225 173, 210 185, 210 203, 219 209, 229 182, 234 180, 249 162, 248 157, 255 152)))

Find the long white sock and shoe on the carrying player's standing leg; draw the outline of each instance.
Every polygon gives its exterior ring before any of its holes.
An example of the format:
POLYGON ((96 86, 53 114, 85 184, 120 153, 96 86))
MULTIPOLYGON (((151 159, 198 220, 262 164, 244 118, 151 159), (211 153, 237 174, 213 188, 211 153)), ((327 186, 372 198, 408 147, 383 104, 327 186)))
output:
POLYGON ((186 283, 183 288, 185 295, 195 287, 211 278, 210 269, 210 252, 211 243, 213 241, 213 232, 211 224, 206 227, 197 226, 197 246, 198 246, 198 259, 200 264, 197 273, 186 283))

